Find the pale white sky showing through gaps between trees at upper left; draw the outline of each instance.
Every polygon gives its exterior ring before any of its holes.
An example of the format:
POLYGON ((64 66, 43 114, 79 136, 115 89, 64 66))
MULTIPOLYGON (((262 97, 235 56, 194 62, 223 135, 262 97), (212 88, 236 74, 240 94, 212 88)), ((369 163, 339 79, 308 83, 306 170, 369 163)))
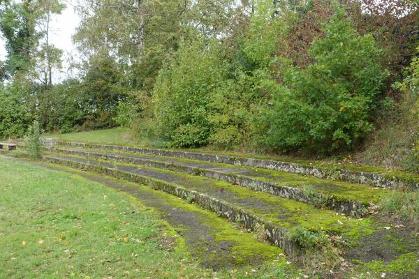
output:
MULTIPOLYGON (((52 19, 52 31, 50 33, 50 41, 55 47, 64 51, 63 70, 66 71, 68 67, 68 61, 66 58, 77 56, 78 52, 75 49, 75 45, 71 40, 71 36, 75 32, 75 28, 78 27, 80 22, 77 12, 74 10, 74 6, 77 0, 64 0, 61 3, 66 4, 66 9, 63 10, 61 15, 54 15, 52 19)), ((0 60, 4 60, 6 57, 6 50, 4 49, 4 38, 0 36, 0 60)), ((61 73, 61 78, 64 77, 64 73, 61 73)))

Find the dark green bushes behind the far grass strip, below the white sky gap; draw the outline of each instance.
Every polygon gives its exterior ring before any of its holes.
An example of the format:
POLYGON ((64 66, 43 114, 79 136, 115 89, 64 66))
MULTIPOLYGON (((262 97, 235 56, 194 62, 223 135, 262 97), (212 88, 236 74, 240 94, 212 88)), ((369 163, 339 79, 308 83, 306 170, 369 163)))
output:
POLYGON ((69 133, 121 124, 118 121, 122 121, 123 106, 130 91, 123 71, 108 56, 95 56, 86 67, 82 80, 34 86, 38 100, 34 113, 46 131, 69 133))

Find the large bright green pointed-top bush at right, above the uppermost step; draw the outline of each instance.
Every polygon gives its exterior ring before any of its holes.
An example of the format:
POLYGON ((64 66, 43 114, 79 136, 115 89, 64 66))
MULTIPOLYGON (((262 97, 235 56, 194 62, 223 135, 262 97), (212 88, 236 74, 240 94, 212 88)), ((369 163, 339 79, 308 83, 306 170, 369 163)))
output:
POLYGON ((261 122, 265 144, 288 151, 348 149, 372 130, 370 117, 388 71, 372 36, 359 36, 341 11, 311 45, 314 63, 304 70, 289 65, 281 83, 265 80, 272 93, 261 122))

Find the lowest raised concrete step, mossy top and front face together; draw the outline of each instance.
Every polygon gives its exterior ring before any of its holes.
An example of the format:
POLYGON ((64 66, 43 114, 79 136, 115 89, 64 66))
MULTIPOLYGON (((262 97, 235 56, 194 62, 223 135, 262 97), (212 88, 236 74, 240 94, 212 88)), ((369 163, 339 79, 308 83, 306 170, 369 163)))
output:
POLYGON ((300 246, 291 238, 295 227, 323 230, 339 235, 347 243, 356 243, 361 236, 374 232, 368 219, 352 219, 330 210, 290 199, 260 193, 215 179, 180 174, 152 167, 109 163, 64 155, 43 156, 51 163, 86 169, 135 183, 195 202, 221 217, 251 229, 263 229, 270 243, 283 248, 288 255, 299 255, 300 246))

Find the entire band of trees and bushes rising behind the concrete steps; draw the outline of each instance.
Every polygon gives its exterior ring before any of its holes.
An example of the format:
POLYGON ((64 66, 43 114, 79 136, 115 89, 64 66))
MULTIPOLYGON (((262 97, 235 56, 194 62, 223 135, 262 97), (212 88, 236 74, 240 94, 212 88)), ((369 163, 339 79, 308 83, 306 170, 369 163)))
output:
POLYGON ((122 126, 157 147, 333 156, 418 172, 419 3, 78 3, 78 77, 54 84, 59 1, 3 1, 0 137, 122 126), (33 13, 36 11, 36 13, 33 13))

